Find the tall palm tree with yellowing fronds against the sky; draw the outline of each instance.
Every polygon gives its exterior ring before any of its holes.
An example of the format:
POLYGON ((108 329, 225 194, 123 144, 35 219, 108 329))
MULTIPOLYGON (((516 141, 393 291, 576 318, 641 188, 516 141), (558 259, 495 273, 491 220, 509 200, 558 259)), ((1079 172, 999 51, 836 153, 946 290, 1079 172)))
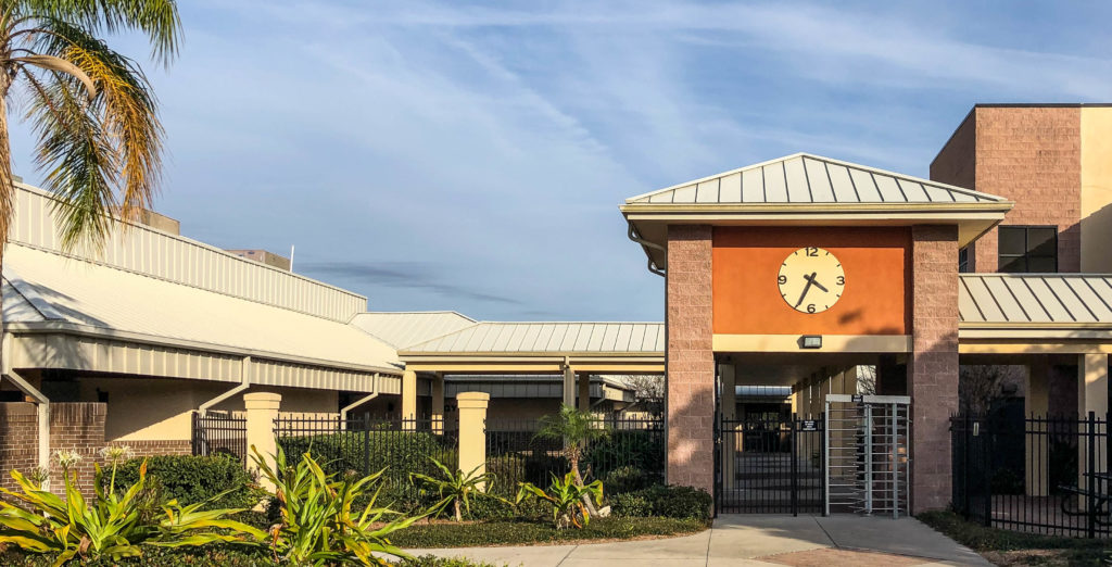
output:
POLYGON ((14 187, 9 102, 37 137, 36 166, 59 197, 64 247, 102 247, 112 217, 149 208, 161 171, 162 126, 139 66, 100 34, 138 32, 169 64, 181 21, 173 0, 0 0, 0 245, 14 187))

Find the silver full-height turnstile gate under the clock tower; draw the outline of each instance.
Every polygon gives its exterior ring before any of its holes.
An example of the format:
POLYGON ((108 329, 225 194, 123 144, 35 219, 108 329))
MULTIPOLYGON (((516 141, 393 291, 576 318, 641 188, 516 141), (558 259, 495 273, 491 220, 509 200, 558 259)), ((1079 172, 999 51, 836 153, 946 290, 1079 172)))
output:
POLYGON ((906 396, 826 396, 823 514, 907 513, 906 396))

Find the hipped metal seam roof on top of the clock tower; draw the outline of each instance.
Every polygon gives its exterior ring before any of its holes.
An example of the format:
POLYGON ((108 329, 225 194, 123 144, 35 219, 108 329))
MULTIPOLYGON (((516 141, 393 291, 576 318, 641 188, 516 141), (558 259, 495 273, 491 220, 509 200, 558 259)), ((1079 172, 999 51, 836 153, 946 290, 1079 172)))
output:
POLYGON ((1009 202, 927 179, 796 153, 626 199, 627 205, 1009 202))

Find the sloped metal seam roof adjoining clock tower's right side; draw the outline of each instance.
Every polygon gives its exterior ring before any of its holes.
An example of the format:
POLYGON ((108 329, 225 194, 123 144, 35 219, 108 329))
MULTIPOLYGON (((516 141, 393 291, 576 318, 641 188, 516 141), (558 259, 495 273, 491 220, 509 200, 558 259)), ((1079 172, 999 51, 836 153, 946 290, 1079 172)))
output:
POLYGON ((1112 276, 963 273, 959 284, 957 307, 963 326, 1112 326, 1112 276))

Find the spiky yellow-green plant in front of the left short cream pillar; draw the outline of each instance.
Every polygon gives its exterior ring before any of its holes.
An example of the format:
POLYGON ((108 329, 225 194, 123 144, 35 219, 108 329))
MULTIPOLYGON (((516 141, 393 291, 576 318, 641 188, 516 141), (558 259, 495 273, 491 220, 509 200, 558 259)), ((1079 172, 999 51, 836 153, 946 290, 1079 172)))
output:
MULTIPOLYGON (((280 565, 359 563, 389 565, 384 554, 409 557, 393 546, 388 536, 427 516, 404 517, 375 501, 381 489, 383 470, 365 476, 325 474, 309 452, 296 465, 278 447, 275 466, 251 447, 256 467, 274 486, 280 520, 270 527, 269 545, 280 565), (371 491, 374 487, 374 491, 371 491), (361 511, 356 500, 367 498, 361 511)), ((384 469, 385 470, 385 469, 384 469)))

